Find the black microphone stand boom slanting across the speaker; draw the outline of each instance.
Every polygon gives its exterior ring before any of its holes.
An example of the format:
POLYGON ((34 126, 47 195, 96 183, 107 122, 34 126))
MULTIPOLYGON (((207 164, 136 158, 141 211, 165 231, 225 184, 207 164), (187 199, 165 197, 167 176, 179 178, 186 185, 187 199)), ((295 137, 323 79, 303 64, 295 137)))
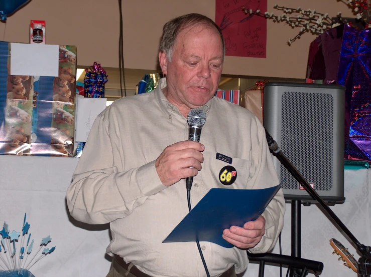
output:
MULTIPOLYGON (((318 193, 309 185, 309 183, 304 179, 300 172, 295 168, 295 166, 287 159, 287 157, 282 153, 277 145, 277 142, 271 137, 271 135, 266 130, 266 137, 268 142, 268 147, 273 152, 279 161, 289 170, 289 172, 295 177, 295 179, 305 188, 309 195, 317 200, 326 213, 335 221, 339 228, 346 234, 346 236, 355 244, 358 251, 361 253, 358 259, 358 274, 359 277, 369 277, 371 276, 371 247, 361 244, 355 236, 349 231, 349 229, 344 225, 344 223, 337 217, 337 215, 330 209, 325 201, 318 195, 318 193)), ((300 230, 298 230, 300 231, 300 230)))

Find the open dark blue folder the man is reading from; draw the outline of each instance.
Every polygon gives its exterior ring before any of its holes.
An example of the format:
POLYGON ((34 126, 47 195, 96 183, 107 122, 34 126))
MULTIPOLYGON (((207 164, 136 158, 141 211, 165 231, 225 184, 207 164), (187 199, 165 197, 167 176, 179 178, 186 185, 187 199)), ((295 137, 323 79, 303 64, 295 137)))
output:
POLYGON ((232 244, 222 238, 230 226, 242 227, 257 219, 281 184, 264 189, 212 188, 183 218, 163 242, 210 241, 226 248, 232 244))

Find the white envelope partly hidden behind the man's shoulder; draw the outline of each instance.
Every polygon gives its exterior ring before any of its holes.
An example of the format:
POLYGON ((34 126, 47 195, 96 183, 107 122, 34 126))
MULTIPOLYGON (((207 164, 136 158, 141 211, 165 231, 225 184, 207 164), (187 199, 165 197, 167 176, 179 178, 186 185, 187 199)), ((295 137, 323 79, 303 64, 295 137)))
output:
POLYGON ((95 118, 106 108, 106 98, 79 98, 75 141, 85 142, 95 118))

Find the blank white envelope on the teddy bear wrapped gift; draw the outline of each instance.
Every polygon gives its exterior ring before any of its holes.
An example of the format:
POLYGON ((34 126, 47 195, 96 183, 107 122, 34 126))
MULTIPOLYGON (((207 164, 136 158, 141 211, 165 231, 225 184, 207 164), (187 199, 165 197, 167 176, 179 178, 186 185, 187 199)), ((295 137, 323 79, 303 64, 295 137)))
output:
POLYGON ((11 75, 58 77, 59 46, 11 43, 11 75))

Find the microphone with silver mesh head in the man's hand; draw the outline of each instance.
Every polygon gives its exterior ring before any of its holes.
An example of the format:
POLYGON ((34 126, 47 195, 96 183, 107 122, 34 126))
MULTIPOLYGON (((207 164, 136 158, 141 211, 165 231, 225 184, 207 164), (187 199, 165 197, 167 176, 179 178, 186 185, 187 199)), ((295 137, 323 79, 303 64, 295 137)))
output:
MULTIPOLYGON (((206 121, 206 114, 200 109, 192 109, 187 115, 189 125, 188 140, 200 142, 201 129, 206 121)), ((190 191, 193 183, 193 177, 186 179, 187 190, 190 191)))

